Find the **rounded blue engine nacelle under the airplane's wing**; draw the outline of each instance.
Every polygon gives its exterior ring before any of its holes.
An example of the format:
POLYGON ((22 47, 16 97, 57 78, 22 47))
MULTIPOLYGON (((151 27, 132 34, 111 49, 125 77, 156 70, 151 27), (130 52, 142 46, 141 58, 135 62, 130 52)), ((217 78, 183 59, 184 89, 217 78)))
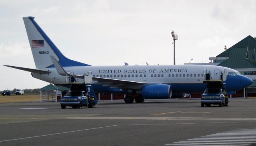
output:
POLYGON ((166 84, 148 85, 142 87, 144 99, 168 99, 172 97, 172 87, 166 84))

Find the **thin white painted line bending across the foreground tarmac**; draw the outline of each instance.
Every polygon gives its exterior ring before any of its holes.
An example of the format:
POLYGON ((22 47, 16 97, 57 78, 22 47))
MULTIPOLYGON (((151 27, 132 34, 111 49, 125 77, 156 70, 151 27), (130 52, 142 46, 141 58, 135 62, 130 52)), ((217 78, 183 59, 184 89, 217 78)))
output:
MULTIPOLYGON (((115 127, 115 126, 150 126, 150 125, 178 125, 178 124, 224 124, 224 123, 246 123, 246 122, 198 122, 198 123, 165 123, 165 124, 120 124, 120 125, 110 125, 110 126, 82 129, 82 130, 74 130, 74 131, 68 131, 68 132, 59 132, 59 133, 53 133, 53 134, 30 136, 30 137, 24 137, 24 138, 1 140, 0 142, 8 142, 8 141, 14 141, 14 140, 23 140, 23 139, 29 139, 29 138, 38 138, 38 137, 44 137, 44 136, 52 136, 52 135, 66 134, 66 133, 72 133, 72 132, 81 132, 81 131, 86 131, 86 130, 94 130, 94 129, 100 129, 100 128, 115 127)), ((192 145, 190 145, 190 146, 192 146, 192 145)), ((205 146, 205 145, 202 145, 202 146, 205 146)))

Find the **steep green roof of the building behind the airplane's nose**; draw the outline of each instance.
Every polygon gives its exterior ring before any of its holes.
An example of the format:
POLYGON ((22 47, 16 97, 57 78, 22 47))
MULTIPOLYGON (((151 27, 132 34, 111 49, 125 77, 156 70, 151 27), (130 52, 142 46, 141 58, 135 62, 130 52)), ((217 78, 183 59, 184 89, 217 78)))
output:
POLYGON ((218 66, 233 69, 256 68, 256 38, 248 36, 216 57, 229 57, 218 66))

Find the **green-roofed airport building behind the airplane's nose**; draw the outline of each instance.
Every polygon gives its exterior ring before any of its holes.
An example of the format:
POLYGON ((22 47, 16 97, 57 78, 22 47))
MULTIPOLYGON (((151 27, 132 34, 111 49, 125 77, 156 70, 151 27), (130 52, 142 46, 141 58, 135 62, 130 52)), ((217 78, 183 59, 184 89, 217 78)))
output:
MULTIPOLYGON (((233 96, 255 97, 256 95, 256 37, 247 36, 216 57, 209 57, 212 65, 235 69, 253 80, 252 85, 243 91, 237 91, 233 96)), ((211 65, 209 63, 209 65, 211 65)))

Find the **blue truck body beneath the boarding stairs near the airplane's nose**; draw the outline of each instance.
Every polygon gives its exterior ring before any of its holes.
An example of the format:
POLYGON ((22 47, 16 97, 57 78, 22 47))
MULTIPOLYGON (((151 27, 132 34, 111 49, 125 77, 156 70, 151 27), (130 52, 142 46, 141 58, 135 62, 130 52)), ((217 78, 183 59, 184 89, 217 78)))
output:
POLYGON ((204 105, 210 107, 211 104, 222 107, 224 101, 225 95, 223 94, 222 89, 205 89, 201 96, 201 107, 204 107, 204 105))

